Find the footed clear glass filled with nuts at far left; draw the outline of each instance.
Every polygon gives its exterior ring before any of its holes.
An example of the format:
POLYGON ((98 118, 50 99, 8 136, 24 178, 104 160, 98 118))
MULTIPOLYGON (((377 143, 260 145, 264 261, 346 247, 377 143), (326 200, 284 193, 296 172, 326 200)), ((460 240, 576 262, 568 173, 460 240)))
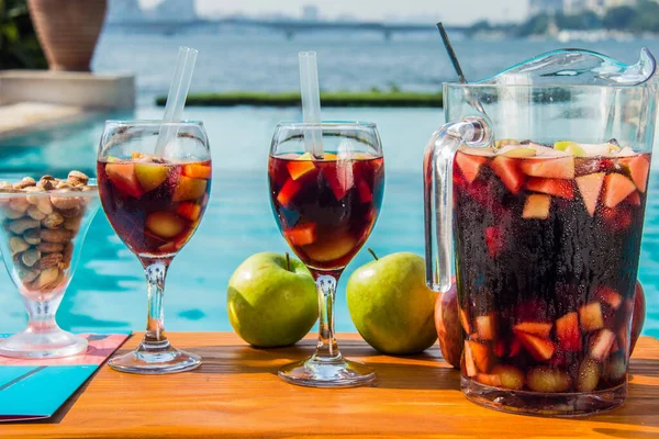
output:
POLYGON ((0 354, 62 358, 87 349, 87 339, 55 320, 85 236, 99 209, 94 181, 71 171, 68 179, 44 176, 0 182, 0 248, 27 312, 27 327, 0 340, 0 354))

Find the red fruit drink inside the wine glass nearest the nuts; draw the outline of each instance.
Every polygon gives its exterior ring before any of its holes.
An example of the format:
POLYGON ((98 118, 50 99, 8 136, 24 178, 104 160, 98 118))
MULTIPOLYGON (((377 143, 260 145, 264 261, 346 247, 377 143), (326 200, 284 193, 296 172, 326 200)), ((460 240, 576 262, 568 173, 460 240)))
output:
POLYGON ((141 154, 98 162, 99 193, 112 227, 137 255, 167 257, 190 239, 205 210, 211 162, 141 154))

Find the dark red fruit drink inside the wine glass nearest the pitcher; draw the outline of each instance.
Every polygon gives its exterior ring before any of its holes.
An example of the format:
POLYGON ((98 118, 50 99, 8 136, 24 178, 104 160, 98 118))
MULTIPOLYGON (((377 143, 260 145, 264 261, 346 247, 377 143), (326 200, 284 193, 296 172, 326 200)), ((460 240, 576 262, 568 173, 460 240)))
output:
POLYGON ((272 206, 284 238, 320 270, 345 267, 364 245, 382 203, 382 157, 309 153, 270 157, 272 206))

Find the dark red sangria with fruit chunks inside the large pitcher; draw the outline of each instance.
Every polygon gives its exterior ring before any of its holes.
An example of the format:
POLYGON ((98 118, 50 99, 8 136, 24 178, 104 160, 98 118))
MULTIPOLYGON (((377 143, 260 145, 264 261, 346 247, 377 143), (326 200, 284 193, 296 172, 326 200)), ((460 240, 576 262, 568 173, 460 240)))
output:
POLYGON ((540 393, 624 382, 649 168, 615 142, 458 150, 466 379, 540 393))

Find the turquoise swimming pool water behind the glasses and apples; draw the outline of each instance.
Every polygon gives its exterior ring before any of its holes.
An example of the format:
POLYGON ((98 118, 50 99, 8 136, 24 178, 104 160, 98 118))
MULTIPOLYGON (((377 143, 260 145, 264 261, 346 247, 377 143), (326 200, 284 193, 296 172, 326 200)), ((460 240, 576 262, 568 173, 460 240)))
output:
MULTIPOLYGON (((258 251, 288 250, 268 200, 266 162, 277 122, 297 120, 295 109, 188 109, 187 117, 206 125, 213 158, 212 198, 196 236, 175 259, 167 280, 166 325, 169 330, 231 330, 226 284, 233 270, 258 251)), ((387 162, 384 203, 367 246, 379 255, 423 254, 421 164, 428 136, 443 121, 432 109, 327 109, 325 119, 376 122, 387 162)), ((96 173, 96 148, 107 117, 158 119, 161 109, 90 115, 81 123, 0 139, 0 173, 62 175, 77 168, 96 173)), ((657 169, 657 168, 656 168, 657 169)), ((659 190, 657 172, 650 185, 659 190)), ((659 198, 648 198, 639 279, 648 300, 645 334, 659 336, 659 198)), ((355 330, 345 286, 353 270, 370 260, 362 250, 348 266, 336 305, 338 330, 355 330)), ((19 294, 0 270, 0 331, 22 329, 26 317, 19 294)), ((102 211, 87 237, 78 270, 58 312, 71 330, 144 327, 145 281, 135 257, 114 235, 102 211)))

